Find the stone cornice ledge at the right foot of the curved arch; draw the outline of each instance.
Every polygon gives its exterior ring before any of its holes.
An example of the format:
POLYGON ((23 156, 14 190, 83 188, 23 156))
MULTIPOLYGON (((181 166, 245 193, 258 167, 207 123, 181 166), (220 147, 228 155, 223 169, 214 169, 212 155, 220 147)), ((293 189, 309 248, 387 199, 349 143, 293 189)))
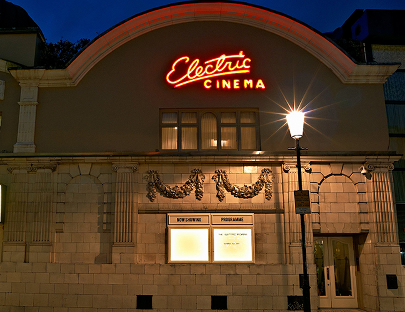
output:
POLYGON ((343 81, 346 84, 384 84, 401 64, 356 65, 343 81))

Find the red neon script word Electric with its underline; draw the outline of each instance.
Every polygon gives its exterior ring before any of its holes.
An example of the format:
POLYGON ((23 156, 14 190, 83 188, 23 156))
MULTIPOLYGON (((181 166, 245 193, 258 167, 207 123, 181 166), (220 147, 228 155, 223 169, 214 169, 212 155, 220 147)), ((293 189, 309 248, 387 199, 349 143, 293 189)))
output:
MULTIPOLYGON (((239 52, 236 55, 225 55, 222 54, 218 58, 213 58, 212 60, 207 60, 204 62, 205 67, 198 66, 200 60, 196 58, 191 62, 190 66, 187 69, 187 73, 178 79, 171 78, 173 73, 176 71, 176 66, 179 62, 187 64, 190 61, 188 56, 183 56, 177 59, 173 65, 171 71, 166 75, 166 81, 169 84, 174 84, 175 88, 194 82, 197 80, 203 80, 210 77, 217 77, 222 75, 233 75, 238 73, 250 73, 250 58, 245 58, 243 51, 239 52), (236 59, 236 60, 235 60, 236 59), (212 64, 211 64, 212 63, 212 64), (175 80, 171 80, 175 79, 175 80)), ((219 87, 217 82, 217 88, 219 87)), ((229 86, 230 88, 230 86, 229 86)))

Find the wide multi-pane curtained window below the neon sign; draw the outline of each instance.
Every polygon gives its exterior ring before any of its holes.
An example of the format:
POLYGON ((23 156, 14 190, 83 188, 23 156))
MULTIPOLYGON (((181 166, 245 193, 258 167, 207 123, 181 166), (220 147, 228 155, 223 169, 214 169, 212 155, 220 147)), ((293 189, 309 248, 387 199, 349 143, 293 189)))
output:
POLYGON ((160 146, 171 151, 258 150, 258 109, 160 110, 160 146))

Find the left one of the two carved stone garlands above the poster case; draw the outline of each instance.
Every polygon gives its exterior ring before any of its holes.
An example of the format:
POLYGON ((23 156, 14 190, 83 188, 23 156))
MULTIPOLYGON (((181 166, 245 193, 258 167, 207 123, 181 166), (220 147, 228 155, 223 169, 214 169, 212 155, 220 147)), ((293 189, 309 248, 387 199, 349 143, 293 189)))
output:
POLYGON ((196 199, 201 200, 204 195, 204 179, 205 175, 200 169, 191 170, 189 179, 184 183, 183 186, 171 187, 167 184, 164 184, 160 180, 160 176, 157 170, 147 171, 145 179, 148 179, 147 184, 147 195, 150 202, 154 202, 156 199, 156 193, 160 193, 163 197, 166 198, 185 198, 185 196, 190 195, 190 193, 195 189, 196 199))

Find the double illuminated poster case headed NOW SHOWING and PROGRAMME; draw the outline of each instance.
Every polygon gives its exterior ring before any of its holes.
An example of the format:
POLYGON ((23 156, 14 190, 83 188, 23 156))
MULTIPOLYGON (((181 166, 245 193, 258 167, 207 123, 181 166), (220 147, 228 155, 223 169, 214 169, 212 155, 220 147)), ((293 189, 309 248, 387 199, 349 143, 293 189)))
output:
POLYGON ((169 213, 168 263, 254 263, 253 213, 169 213))

